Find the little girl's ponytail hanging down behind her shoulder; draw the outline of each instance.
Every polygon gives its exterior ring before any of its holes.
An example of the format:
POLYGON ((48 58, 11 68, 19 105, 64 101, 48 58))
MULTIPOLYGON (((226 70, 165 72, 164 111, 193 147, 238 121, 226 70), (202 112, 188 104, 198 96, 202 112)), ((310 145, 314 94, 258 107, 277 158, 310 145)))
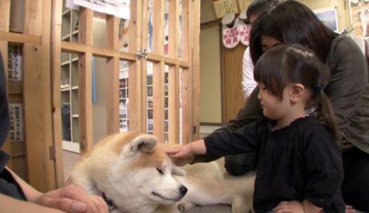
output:
POLYGON ((326 96, 326 94, 322 89, 319 90, 314 89, 314 90, 315 92, 319 93, 318 97, 318 99, 320 99, 319 113, 321 114, 321 117, 323 118, 326 127, 328 127, 329 131, 331 131, 334 141, 338 141, 338 129, 331 101, 329 100, 329 98, 326 96))

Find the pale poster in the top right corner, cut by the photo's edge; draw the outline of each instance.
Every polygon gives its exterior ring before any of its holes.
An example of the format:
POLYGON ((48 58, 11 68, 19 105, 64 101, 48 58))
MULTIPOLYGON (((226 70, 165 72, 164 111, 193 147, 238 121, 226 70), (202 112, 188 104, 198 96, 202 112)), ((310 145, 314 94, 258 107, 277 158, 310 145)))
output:
POLYGON ((369 36, 369 0, 350 0, 350 15, 353 35, 369 36))

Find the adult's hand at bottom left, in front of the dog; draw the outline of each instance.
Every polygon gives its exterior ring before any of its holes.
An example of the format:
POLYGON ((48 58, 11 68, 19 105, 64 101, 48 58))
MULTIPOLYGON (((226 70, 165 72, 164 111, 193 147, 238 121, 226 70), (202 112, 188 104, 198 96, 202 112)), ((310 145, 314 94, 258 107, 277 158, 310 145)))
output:
POLYGON ((34 202, 70 213, 109 212, 106 202, 101 197, 88 195, 82 187, 76 185, 68 185, 41 194, 34 202))

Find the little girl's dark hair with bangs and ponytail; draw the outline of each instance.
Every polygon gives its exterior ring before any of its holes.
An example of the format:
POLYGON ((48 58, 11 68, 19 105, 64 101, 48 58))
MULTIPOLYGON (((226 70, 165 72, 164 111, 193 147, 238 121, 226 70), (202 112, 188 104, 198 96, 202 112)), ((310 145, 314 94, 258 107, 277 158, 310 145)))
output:
POLYGON ((328 69, 312 50, 302 45, 278 45, 268 50, 255 65, 254 79, 265 84, 280 101, 287 84, 302 84, 312 91, 308 105, 318 104, 319 114, 335 140, 338 131, 331 102, 322 90, 321 73, 328 69))

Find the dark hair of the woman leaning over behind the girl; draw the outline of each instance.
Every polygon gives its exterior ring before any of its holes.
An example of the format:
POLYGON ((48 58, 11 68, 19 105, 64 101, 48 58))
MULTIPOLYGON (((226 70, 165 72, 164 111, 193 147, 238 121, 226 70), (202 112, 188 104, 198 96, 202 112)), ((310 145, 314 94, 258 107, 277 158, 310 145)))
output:
POLYGON ((253 63, 263 55, 261 36, 268 35, 282 43, 297 43, 314 51, 323 62, 335 33, 314 12, 297 1, 283 1, 260 13, 250 33, 250 55, 253 63))

